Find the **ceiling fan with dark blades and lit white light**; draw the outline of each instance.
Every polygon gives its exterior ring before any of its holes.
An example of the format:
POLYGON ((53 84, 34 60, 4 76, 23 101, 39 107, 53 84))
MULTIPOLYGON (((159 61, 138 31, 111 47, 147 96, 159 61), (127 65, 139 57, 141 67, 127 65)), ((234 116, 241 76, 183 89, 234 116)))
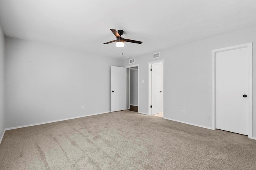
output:
POLYGON ((116 29, 110 29, 110 30, 116 36, 116 40, 109 41, 109 42, 104 43, 104 44, 109 44, 109 43, 116 42, 116 47, 124 47, 124 41, 130 42, 130 43, 137 43, 137 44, 141 44, 142 43, 142 41, 135 41, 135 40, 131 40, 131 39, 122 38, 121 35, 124 34, 124 31, 121 30, 121 29, 118 30, 118 31, 116 31, 116 29))

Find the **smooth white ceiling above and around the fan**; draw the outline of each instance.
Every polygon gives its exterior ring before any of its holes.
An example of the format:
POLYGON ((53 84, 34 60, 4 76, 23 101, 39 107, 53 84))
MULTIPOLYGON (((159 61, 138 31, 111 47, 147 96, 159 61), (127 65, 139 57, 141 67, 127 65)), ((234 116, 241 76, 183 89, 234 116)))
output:
POLYGON ((1 0, 4 35, 88 55, 139 57, 256 25, 255 0, 1 0), (123 29, 123 55, 111 29, 123 29), (119 55, 117 55, 119 49, 119 55))

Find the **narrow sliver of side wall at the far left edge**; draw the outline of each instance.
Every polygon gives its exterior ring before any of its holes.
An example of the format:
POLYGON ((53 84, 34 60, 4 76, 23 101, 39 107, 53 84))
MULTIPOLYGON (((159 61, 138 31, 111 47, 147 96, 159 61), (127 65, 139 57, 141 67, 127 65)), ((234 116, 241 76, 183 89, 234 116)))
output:
POLYGON ((0 142, 5 127, 5 96, 4 96, 4 33, 0 25, 0 142))

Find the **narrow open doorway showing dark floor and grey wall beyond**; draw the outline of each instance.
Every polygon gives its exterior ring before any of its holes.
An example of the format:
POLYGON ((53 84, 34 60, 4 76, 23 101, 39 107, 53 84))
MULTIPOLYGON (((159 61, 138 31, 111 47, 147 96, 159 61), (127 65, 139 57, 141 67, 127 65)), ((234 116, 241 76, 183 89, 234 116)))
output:
POLYGON ((127 68, 127 109, 138 112, 139 110, 139 67, 127 68))

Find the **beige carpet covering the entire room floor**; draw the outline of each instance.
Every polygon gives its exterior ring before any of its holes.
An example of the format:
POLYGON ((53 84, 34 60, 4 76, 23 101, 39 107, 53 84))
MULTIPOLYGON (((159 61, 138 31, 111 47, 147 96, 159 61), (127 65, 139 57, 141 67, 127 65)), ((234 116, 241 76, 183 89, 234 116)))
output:
POLYGON ((0 169, 256 169, 256 140, 118 111, 6 131, 0 169))

